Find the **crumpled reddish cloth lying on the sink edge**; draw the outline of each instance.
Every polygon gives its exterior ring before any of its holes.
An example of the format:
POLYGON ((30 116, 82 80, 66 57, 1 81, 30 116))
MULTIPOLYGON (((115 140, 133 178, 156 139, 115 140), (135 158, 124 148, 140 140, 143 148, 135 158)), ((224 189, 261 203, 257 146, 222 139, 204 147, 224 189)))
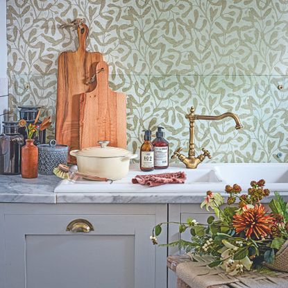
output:
POLYGON ((155 187, 164 184, 184 184, 185 180, 185 172, 180 171, 173 173, 136 175, 135 178, 132 179, 132 183, 155 187))

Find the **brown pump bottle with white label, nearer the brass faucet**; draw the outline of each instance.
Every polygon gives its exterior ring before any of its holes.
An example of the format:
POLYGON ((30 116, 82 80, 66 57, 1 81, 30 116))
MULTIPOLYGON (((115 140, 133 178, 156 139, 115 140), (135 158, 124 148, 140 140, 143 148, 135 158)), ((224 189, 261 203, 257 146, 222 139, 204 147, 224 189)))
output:
POLYGON ((164 139, 163 127, 158 127, 156 132, 156 138, 152 144, 154 146, 154 168, 155 169, 167 169, 169 166, 169 143, 164 139))

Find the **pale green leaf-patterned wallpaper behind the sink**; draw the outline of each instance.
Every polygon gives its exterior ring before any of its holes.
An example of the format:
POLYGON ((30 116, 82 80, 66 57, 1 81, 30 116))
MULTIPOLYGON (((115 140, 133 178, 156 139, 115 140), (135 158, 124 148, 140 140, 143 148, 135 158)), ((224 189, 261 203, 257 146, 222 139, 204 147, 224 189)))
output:
POLYGON ((78 45, 60 25, 75 18, 90 27, 88 49, 105 55, 110 87, 128 96, 128 149, 163 126, 170 153, 187 151, 194 105, 244 124, 197 121, 197 152, 205 146, 212 162, 288 161, 287 0, 8 0, 14 118, 17 105, 42 105, 55 120, 58 55, 78 45))

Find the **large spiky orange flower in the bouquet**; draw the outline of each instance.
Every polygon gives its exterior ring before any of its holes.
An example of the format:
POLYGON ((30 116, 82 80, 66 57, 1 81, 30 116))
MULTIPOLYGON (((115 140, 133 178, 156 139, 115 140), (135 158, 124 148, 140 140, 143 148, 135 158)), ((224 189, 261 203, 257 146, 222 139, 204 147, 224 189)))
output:
POLYGON ((265 216, 264 206, 255 205, 247 209, 242 214, 233 216, 233 227, 237 234, 244 231, 246 237, 251 238, 255 235, 257 239, 265 237, 271 233, 271 225, 275 219, 271 216, 265 216))

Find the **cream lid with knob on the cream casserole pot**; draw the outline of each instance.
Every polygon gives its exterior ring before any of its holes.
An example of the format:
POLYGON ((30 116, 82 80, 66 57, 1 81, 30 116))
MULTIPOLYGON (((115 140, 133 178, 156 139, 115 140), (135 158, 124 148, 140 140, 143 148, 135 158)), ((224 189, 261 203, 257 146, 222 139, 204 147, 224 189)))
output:
POLYGON ((115 158, 125 157, 132 154, 130 151, 123 148, 107 146, 109 141, 99 141, 98 143, 100 146, 79 150, 77 151, 77 155, 98 158, 115 158))

